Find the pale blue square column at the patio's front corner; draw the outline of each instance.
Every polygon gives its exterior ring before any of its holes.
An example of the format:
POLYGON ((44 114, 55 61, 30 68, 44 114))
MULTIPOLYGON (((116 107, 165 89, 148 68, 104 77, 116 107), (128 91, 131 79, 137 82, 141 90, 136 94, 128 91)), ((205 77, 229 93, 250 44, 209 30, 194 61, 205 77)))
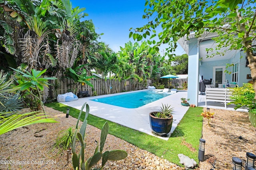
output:
POLYGON ((188 99, 197 106, 199 82, 199 55, 197 39, 190 39, 188 46, 188 99))

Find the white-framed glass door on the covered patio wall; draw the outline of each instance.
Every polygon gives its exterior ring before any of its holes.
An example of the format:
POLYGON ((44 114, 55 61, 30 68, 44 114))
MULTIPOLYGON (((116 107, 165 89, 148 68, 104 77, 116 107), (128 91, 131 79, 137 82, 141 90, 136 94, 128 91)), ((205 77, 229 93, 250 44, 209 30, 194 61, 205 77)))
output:
POLYGON ((212 84, 218 88, 218 84, 224 84, 226 79, 225 66, 215 66, 213 67, 212 84))

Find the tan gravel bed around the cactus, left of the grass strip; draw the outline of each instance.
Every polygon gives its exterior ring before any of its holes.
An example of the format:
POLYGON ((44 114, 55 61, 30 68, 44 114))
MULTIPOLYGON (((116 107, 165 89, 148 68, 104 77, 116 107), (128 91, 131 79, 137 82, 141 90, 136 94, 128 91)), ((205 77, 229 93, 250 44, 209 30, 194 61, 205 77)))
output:
MULTIPOLYGON (((72 170, 72 155, 67 163, 66 150, 53 149, 60 131, 76 126, 76 118, 50 107, 46 113, 59 123, 40 123, 18 128, 0 136, 0 170, 72 170)), ((29 111, 28 109, 24 110, 29 111)), ((82 122, 80 121, 80 126, 82 122)), ((100 142, 101 130, 87 125, 85 158, 89 158, 100 142)), ((77 146, 79 142, 77 142, 77 146)), ((77 147, 78 148, 78 147, 77 147)), ((113 135, 107 136, 104 150, 122 149, 128 153, 127 158, 119 161, 108 161, 104 169, 108 170, 184 170, 166 159, 139 149, 138 147, 113 135)), ((79 148, 77 153, 79 153, 79 148)), ((104 151, 103 151, 104 152, 104 151)), ((100 161, 101 163, 101 161, 100 161)), ((98 167, 99 168, 99 167, 98 167)))

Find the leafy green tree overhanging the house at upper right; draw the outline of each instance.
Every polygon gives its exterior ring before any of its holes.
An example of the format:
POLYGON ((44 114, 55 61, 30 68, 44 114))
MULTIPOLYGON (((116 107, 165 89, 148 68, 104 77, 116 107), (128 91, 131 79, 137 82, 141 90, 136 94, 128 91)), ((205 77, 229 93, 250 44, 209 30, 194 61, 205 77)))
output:
MULTIPOLYGON (((145 15, 148 23, 132 29, 130 37, 141 40, 143 37, 156 37, 152 41, 156 48, 168 43, 167 53, 175 51, 178 39, 194 32, 196 36, 204 32, 216 32, 216 49, 241 50, 246 53, 256 91, 256 0, 146 0, 145 15), (159 28, 161 27, 161 31, 159 28)), ((188 37, 188 36, 187 36, 188 37)), ((209 56, 212 57, 212 56, 209 56)))

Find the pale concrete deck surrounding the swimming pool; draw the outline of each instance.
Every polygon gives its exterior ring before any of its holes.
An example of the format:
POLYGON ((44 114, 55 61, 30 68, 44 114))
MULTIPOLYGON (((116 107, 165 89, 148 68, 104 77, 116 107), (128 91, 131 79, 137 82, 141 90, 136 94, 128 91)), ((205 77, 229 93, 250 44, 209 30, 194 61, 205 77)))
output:
MULTIPOLYGON (((141 91, 141 90, 138 90, 138 91, 141 91)), ((131 93, 131 92, 123 92, 118 94, 125 94, 125 93, 131 93)), ((171 132, 168 134, 168 137, 159 137, 164 140, 169 139, 170 134, 174 131, 174 129, 176 128, 176 126, 178 125, 178 123, 180 122, 180 120, 182 119, 182 117, 184 116, 184 114, 189 108, 188 106, 182 106, 180 104, 181 102, 180 98, 187 98, 187 92, 182 90, 174 94, 171 94, 170 96, 162 98, 160 100, 156 100, 155 102, 152 102, 150 104, 146 104, 144 106, 134 108, 134 109, 113 106, 113 105, 94 102, 90 100, 90 99, 101 98, 106 96, 114 96, 118 94, 108 94, 108 95, 102 95, 102 96, 78 98, 78 100, 75 100, 72 102, 61 102, 61 103, 80 110, 82 108, 82 105, 85 102, 87 102, 87 104, 90 106, 91 115, 95 115, 97 117, 107 119, 109 121, 118 123, 120 125, 129 127, 131 129, 135 129, 135 130, 147 133, 148 135, 152 135, 152 136, 156 136, 156 135, 152 133, 152 130, 150 128, 149 113, 152 111, 160 111, 160 107, 162 106, 162 104, 171 105, 171 107, 174 107, 173 120, 175 121, 173 121, 172 123, 172 129, 171 129, 171 132)))

